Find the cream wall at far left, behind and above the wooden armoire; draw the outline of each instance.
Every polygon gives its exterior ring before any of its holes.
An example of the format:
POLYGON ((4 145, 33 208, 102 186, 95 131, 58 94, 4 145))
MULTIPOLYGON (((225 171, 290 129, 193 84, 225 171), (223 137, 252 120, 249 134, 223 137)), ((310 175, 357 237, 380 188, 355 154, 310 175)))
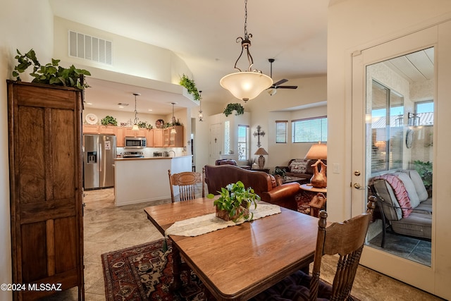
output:
MULTIPOLYGON (((16 49, 22 54, 35 49, 40 63, 53 55, 53 14, 47 1, 2 1, 0 10, 0 283, 11 283, 11 228, 8 169, 8 100, 6 80, 14 78, 16 49)), ((30 73, 30 72, 29 72, 30 73)), ((22 75, 30 81, 29 75, 22 75)), ((11 292, 0 291, 0 300, 12 300, 11 292)))

